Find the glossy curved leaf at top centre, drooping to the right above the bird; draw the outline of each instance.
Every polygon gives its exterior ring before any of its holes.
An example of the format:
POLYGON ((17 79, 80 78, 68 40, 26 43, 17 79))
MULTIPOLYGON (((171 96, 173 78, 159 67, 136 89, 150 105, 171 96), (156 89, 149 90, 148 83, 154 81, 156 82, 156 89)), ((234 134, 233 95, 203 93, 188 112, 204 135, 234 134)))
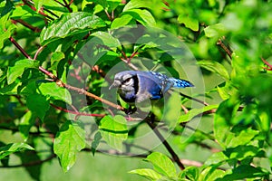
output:
POLYGON ((131 9, 122 14, 130 14, 136 21, 142 25, 156 26, 156 21, 152 14, 146 9, 131 9))

